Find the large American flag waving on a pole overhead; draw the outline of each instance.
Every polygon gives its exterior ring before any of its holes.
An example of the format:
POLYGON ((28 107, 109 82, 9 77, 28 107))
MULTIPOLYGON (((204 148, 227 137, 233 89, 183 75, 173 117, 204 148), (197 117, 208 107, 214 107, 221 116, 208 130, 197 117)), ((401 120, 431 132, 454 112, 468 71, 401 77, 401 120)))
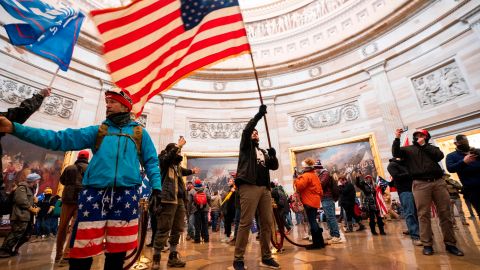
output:
POLYGON ((133 111, 193 71, 250 50, 237 0, 137 0, 94 10, 113 81, 133 111))

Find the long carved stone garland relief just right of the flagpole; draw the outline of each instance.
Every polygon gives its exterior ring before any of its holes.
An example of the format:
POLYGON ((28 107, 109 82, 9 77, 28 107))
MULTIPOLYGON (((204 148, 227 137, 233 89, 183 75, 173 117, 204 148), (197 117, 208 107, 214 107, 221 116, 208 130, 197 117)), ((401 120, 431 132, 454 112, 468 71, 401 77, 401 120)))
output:
POLYGON ((314 128, 324 128, 337 125, 341 122, 349 122, 358 119, 360 108, 358 102, 342 104, 333 108, 305 113, 295 116, 293 128, 297 132, 314 128))

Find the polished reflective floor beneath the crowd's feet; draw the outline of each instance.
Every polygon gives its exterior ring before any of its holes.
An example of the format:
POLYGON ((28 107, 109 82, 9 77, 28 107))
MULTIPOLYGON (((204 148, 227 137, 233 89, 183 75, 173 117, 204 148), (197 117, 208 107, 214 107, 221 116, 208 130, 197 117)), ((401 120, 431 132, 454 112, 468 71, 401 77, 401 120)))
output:
MULTIPOLYGON (((389 221, 386 236, 373 236, 369 231, 343 235, 346 241, 329 245, 325 249, 307 251, 290 244, 285 245, 283 253, 276 253, 275 259, 282 269, 480 269, 480 223, 469 220, 470 226, 456 230, 458 246, 465 252, 464 257, 448 255, 441 241, 437 222, 433 222, 435 235, 435 255, 422 255, 422 247, 415 247, 408 236, 402 235, 403 221, 389 221)), ((458 224, 461 224, 458 222, 458 224)), ((325 228, 325 224, 323 224, 325 228)), ((295 227, 292 237, 301 239, 303 230, 295 227)), ((326 233, 324 232, 324 235, 326 233)), ((194 244, 182 239, 179 252, 187 261, 185 269, 229 269, 233 259, 234 247, 221 243, 219 232, 211 233, 209 243, 194 244)), ((245 263, 248 269, 261 269, 259 264, 260 246, 254 236, 247 248, 245 263)), ((298 240, 304 241, 304 240, 298 240)), ((53 263, 54 240, 29 243, 20 250, 21 254, 9 259, 0 259, 0 269, 47 270, 68 269, 53 263)), ((152 249, 145 248, 144 255, 151 258, 152 249)), ((167 269, 168 253, 162 253, 162 269, 167 269)), ((92 269, 102 269, 103 256, 94 260, 92 269)), ((148 265, 148 264, 147 264, 148 265)), ((142 269, 141 267, 138 269, 142 269)), ((145 269, 145 268, 143 268, 145 269)))

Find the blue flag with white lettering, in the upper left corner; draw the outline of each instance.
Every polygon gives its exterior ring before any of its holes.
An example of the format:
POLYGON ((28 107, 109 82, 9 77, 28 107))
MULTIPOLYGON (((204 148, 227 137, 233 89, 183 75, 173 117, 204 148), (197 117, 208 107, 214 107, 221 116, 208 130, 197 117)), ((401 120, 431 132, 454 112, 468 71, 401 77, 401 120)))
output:
POLYGON ((67 71, 85 15, 70 7, 54 8, 40 0, 0 0, 13 18, 23 23, 4 25, 13 45, 57 63, 67 71))

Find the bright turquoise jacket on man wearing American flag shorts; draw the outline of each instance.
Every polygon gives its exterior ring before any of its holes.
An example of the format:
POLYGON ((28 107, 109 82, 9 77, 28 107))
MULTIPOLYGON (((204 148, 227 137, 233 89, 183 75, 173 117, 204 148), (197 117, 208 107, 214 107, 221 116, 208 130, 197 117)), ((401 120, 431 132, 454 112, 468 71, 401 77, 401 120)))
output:
MULTIPOLYGON (((94 188, 140 186, 142 178, 135 142, 126 136, 114 135, 114 133, 124 133, 133 136, 133 129, 138 123, 130 121, 123 127, 115 126, 108 119, 104 123, 108 125, 108 133, 98 151, 94 153, 83 176, 82 184, 94 188)), ((55 132, 14 123, 13 135, 51 150, 71 151, 94 149, 98 128, 99 126, 96 125, 55 132)), ((142 132, 141 154, 150 183, 154 189, 160 190, 161 176, 157 152, 146 130, 142 132)))

